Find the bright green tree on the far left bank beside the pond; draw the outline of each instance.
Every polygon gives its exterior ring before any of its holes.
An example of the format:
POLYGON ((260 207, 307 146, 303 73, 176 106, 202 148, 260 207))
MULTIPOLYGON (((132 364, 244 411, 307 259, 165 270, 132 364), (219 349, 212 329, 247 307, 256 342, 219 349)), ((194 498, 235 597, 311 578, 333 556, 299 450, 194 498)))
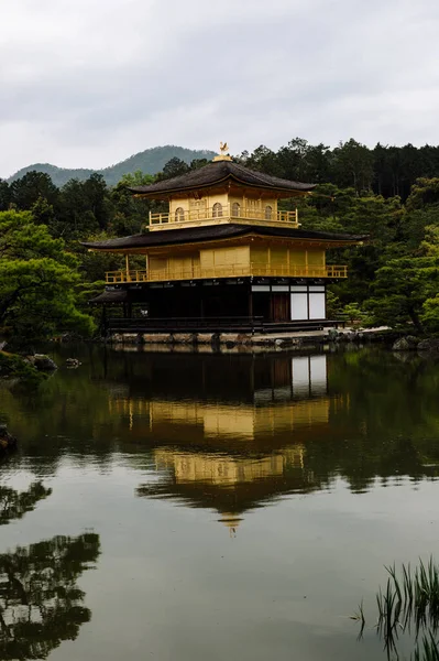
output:
POLYGON ((56 332, 89 334, 92 322, 76 308, 78 260, 29 213, 0 213, 0 327, 15 340, 56 332))

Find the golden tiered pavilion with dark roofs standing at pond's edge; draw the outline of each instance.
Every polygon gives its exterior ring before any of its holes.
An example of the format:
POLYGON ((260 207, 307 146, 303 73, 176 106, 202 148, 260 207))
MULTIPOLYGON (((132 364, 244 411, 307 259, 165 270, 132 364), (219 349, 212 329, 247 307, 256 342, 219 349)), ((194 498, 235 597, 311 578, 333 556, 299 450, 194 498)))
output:
MULTIPOLYGON (((270 325, 325 322, 327 284, 347 278, 328 264, 326 251, 364 237, 310 231, 281 199, 303 197, 314 184, 254 172, 227 154, 149 186, 136 197, 167 203, 150 213, 147 231, 87 242, 119 253, 124 269, 106 274, 106 291, 92 303, 119 305, 124 329, 209 327, 257 319, 270 325)), ((121 324, 119 323, 119 328, 121 324)))

